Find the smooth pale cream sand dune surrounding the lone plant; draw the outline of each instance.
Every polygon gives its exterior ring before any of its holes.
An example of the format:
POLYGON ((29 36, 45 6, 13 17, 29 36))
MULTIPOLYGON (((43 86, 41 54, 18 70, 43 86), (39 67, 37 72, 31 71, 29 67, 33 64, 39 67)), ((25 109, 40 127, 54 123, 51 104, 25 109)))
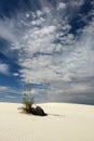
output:
POLYGON ((49 116, 22 114, 22 104, 0 103, 0 141, 94 141, 94 106, 39 105, 49 116))

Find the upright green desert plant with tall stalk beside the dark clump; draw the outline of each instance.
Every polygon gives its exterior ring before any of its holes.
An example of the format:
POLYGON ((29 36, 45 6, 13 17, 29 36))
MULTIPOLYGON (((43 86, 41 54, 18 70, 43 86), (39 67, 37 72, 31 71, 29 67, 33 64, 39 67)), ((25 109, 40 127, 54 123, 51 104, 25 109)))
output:
POLYGON ((31 95, 31 84, 27 84, 27 92, 23 94, 23 111, 25 113, 31 113, 32 104, 35 103, 33 97, 31 95))

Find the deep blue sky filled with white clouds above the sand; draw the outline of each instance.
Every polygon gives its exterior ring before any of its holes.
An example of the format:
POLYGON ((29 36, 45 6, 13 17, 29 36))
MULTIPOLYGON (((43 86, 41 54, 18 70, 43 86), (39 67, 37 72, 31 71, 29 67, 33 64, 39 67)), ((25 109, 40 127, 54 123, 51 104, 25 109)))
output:
POLYGON ((0 101, 94 104, 94 1, 0 1, 0 101))

